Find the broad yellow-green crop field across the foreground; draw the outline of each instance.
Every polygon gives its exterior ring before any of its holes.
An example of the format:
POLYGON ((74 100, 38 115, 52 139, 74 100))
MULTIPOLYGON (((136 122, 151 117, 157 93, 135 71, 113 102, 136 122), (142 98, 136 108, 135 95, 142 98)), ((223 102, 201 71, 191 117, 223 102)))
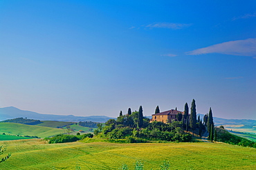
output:
POLYGON ((210 142, 116 144, 71 142, 46 144, 41 139, 0 141, 12 153, 0 169, 118 169, 136 160, 144 169, 255 169, 256 149, 210 142))

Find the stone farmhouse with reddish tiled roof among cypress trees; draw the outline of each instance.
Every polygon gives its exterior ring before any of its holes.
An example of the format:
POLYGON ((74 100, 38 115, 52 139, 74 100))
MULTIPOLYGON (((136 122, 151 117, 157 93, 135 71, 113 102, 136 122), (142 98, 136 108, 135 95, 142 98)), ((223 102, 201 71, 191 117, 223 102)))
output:
POLYGON ((182 115, 184 114, 183 111, 179 111, 179 110, 175 110, 175 109, 163 111, 158 114, 152 114, 151 122, 158 121, 158 122, 162 122, 162 123, 168 123, 172 120, 177 120, 176 115, 179 113, 181 113, 182 115))

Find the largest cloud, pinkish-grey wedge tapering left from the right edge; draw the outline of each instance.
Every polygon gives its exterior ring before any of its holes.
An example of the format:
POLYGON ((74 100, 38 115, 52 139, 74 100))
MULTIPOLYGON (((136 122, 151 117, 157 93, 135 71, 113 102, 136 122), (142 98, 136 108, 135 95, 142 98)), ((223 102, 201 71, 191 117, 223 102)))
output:
POLYGON ((230 54, 236 56, 256 56, 256 39, 228 41, 187 52, 188 55, 210 53, 230 54))

